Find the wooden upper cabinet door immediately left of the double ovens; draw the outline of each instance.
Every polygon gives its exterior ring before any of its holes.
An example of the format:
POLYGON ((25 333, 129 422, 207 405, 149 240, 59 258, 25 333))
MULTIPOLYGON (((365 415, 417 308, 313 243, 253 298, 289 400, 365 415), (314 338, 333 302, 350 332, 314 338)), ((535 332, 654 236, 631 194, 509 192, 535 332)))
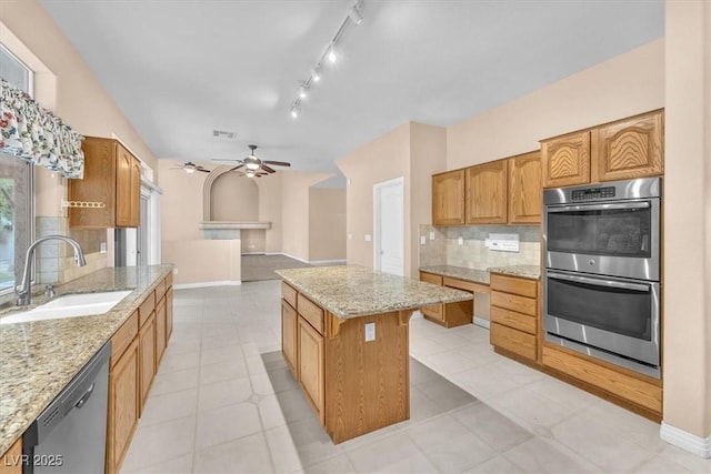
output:
POLYGON ((542 194, 540 152, 509 159, 509 223, 540 223, 542 194))

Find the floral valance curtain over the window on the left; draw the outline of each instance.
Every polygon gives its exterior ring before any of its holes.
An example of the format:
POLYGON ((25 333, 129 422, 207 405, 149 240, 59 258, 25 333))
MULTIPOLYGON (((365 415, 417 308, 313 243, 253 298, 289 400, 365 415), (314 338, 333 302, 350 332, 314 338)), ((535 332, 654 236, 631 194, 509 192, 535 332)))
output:
POLYGON ((0 85, 0 151, 67 178, 83 178, 83 137, 2 78, 0 85))

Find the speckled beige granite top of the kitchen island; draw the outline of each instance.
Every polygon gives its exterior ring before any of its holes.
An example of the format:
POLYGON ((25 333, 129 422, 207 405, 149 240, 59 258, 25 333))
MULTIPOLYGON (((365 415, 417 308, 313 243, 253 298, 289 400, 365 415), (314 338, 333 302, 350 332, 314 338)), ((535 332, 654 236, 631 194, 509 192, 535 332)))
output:
POLYGON ((277 270, 306 296, 341 319, 428 304, 471 300, 471 293, 391 275, 358 265, 277 270))

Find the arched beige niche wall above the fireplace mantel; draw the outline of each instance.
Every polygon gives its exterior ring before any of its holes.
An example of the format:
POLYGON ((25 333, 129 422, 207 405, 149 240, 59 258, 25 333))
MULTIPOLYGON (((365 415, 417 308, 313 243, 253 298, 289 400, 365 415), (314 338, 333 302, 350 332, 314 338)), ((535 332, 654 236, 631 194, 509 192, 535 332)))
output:
POLYGON ((259 188, 237 173, 220 174, 210 189, 211 221, 258 221, 259 188))

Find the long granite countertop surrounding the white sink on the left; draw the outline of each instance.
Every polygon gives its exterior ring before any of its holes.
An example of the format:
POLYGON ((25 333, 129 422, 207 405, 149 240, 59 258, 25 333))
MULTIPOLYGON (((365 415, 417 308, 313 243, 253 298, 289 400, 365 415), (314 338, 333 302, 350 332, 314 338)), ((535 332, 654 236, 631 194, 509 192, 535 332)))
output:
POLYGON ((108 313, 0 325, 0 455, 171 270, 172 265, 106 268, 58 286, 56 296, 133 290, 108 313))

